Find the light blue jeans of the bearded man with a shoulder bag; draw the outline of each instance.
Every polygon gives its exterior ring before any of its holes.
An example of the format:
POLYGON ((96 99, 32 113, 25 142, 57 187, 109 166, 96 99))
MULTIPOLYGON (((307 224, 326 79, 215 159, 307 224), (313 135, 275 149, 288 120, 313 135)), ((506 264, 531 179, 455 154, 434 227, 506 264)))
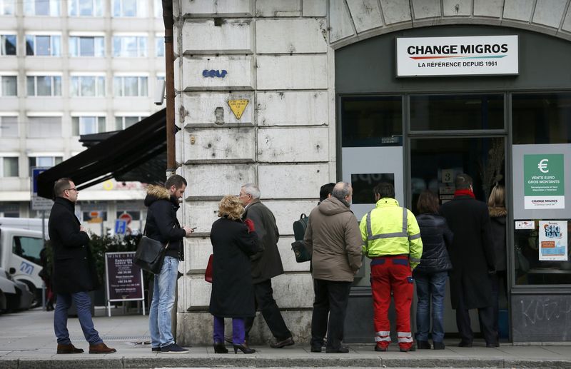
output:
POLYGON ((178 259, 165 256, 161 273, 155 275, 153 300, 148 311, 148 330, 151 332, 151 347, 158 348, 174 343, 171 328, 171 310, 176 294, 178 259))

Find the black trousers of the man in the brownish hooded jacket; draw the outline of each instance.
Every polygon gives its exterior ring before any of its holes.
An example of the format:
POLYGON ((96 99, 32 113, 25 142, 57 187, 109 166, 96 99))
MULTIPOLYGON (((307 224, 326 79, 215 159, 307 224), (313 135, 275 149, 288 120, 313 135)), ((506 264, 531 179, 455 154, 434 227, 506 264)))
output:
POLYGON ((333 349, 340 347, 343 340, 343 325, 345 325, 350 286, 350 282, 313 280, 315 301, 311 316, 312 347, 320 348, 327 332, 329 332, 327 347, 333 349))

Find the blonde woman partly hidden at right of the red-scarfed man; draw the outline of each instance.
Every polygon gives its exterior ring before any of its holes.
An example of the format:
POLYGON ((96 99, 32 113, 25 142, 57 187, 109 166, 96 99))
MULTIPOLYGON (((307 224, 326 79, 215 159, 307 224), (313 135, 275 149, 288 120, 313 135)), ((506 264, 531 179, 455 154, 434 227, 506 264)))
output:
MULTIPOLYGON (((497 319, 500 312, 500 285, 503 286, 507 295, 507 263, 505 256, 505 220, 507 210, 505 209, 505 188, 496 184, 487 199, 487 208, 490 212, 490 223, 492 224, 492 241, 495 254, 495 276, 492 276, 492 295, 494 299, 494 330, 498 334, 497 319)), ((499 334, 498 334, 499 335, 499 334)))

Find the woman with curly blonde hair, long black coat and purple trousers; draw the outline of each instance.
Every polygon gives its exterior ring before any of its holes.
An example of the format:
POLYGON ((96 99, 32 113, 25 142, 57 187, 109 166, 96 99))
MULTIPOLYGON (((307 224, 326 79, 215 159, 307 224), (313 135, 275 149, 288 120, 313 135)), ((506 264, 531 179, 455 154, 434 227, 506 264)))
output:
POLYGON ((232 318, 234 353, 254 353, 245 342, 244 318, 254 316, 254 288, 249 256, 258 252, 258 236, 251 221, 241 221, 244 208, 237 196, 224 196, 218 221, 212 224, 213 283, 209 311, 214 315, 214 352, 224 346, 224 318, 232 318))

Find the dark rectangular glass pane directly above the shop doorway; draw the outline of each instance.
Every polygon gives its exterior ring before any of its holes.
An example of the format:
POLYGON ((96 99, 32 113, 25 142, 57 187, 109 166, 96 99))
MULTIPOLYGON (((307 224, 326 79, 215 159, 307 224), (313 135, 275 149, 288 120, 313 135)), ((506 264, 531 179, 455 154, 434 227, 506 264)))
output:
POLYGON ((410 96, 410 129, 412 131, 503 128, 503 95, 410 96))

